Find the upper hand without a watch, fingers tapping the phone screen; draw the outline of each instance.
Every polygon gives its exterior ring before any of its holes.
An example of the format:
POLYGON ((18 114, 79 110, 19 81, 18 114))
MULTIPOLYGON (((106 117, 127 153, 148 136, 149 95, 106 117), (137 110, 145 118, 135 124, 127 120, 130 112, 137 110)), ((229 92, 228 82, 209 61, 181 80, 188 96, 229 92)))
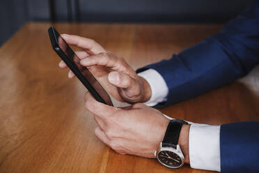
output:
MULTIPOLYGON (((136 75, 124 59, 104 50, 94 40, 67 34, 61 36, 69 45, 83 49, 75 52, 81 59, 81 65, 86 66, 114 98, 127 103, 146 102, 150 99, 150 85, 136 75)), ((59 66, 67 68, 63 61, 59 66)), ((68 77, 74 77, 72 71, 68 73, 68 77)))

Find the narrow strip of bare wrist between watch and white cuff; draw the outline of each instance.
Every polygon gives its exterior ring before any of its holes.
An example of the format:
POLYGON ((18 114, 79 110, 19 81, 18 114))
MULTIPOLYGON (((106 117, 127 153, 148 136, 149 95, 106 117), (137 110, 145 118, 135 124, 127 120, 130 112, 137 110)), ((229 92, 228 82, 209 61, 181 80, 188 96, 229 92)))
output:
POLYGON ((180 136, 178 140, 178 144, 181 147, 182 153, 185 156, 185 163, 189 163, 189 124, 182 125, 182 129, 180 131, 180 136))

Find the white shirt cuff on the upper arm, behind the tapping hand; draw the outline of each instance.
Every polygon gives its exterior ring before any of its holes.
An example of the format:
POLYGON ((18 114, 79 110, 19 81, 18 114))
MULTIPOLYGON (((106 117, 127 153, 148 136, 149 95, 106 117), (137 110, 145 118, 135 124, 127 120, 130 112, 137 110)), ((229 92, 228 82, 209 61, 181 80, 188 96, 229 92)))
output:
POLYGON ((138 73, 138 75, 143 77, 148 82, 152 91, 150 100, 144 104, 148 106, 155 106, 157 103, 166 100, 168 87, 164 81, 164 78, 157 72, 157 70, 150 68, 138 73))

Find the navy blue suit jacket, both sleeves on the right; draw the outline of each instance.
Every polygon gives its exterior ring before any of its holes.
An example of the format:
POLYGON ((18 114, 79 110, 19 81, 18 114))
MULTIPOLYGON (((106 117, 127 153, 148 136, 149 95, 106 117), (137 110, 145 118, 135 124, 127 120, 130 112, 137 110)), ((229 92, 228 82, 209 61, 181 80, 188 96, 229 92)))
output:
MULTIPOLYGON (((140 68, 157 70, 169 89, 156 107, 178 103, 228 84, 259 63, 259 1, 226 27, 169 60, 140 68)), ((259 115, 258 115, 259 116, 259 115)), ((221 125, 221 172, 259 172, 259 122, 221 125)))

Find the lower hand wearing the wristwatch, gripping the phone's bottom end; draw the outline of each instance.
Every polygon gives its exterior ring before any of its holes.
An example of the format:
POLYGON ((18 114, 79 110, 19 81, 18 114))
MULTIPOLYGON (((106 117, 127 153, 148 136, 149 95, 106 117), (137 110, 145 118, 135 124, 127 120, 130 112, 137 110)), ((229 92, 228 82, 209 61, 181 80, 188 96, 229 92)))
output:
MULTIPOLYGON (((90 93, 85 95, 86 109, 93 113, 95 135, 121 154, 155 158, 164 138, 169 120, 161 112, 142 103, 118 108, 97 102, 90 93)), ((189 125, 182 126, 179 144, 189 162, 189 125)))

